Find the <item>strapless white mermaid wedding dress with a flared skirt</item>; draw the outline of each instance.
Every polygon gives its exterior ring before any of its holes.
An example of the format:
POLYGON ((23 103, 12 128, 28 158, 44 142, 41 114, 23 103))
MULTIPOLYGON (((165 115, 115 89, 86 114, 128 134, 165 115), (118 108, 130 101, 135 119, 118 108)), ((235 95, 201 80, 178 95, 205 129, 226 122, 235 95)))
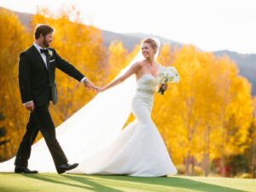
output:
POLYGON ((151 74, 144 74, 137 81, 137 91, 131 102, 135 121, 119 131, 108 147, 81 160, 79 166, 70 172, 138 177, 160 177, 177 173, 165 143, 150 118, 154 89, 158 83, 158 78, 151 74))

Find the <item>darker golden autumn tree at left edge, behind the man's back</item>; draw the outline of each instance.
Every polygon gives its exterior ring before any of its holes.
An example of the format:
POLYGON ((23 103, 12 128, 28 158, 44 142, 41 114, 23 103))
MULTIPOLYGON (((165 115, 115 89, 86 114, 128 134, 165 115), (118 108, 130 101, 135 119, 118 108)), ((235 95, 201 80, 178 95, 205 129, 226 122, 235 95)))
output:
POLYGON ((18 16, 5 9, 0 10, 0 127, 7 131, 9 143, 0 148, 0 158, 9 159, 20 143, 20 134, 26 127, 26 115, 18 86, 18 60, 20 52, 28 46, 28 35, 18 16))

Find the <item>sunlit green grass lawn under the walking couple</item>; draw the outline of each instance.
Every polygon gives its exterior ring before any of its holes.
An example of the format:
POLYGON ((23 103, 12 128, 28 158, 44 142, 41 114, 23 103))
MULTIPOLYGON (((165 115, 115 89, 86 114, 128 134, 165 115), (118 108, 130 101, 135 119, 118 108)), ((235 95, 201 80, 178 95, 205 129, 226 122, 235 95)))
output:
POLYGON ((0 192, 156 192, 156 191, 252 191, 256 179, 224 177, 127 177, 88 176, 80 174, 0 173, 0 192))

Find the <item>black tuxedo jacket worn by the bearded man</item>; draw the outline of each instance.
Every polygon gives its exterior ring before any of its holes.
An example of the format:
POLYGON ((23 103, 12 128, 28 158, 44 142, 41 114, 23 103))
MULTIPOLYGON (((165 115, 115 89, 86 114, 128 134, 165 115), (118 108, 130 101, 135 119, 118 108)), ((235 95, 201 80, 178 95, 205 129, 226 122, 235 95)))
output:
POLYGON ((49 105, 50 100, 54 104, 57 102, 55 67, 78 81, 84 78, 84 75, 63 60, 55 49, 49 50, 52 55, 48 57, 48 68, 34 45, 20 53, 19 85, 22 103, 33 101, 36 107, 40 107, 49 105))

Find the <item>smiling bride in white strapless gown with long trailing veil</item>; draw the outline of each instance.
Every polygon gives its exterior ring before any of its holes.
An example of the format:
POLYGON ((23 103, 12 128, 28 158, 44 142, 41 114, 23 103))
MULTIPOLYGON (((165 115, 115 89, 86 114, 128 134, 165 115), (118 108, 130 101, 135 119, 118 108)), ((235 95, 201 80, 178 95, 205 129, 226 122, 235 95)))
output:
MULTIPOLYGON (((77 168, 68 172, 137 177, 177 173, 150 117, 154 90, 160 86, 162 66, 155 62, 159 49, 157 39, 145 39, 142 53, 138 53, 111 83, 98 88, 101 93, 95 99, 56 129, 56 136, 69 159, 79 162, 77 168), (131 112, 135 121, 122 129, 131 112)), ((174 79, 177 80, 178 77, 174 79)), ((166 90, 166 85, 163 89, 166 90)), ((32 168, 55 172, 43 139, 32 146, 32 153, 29 161, 32 168)), ((13 163, 14 158, 0 164, 0 172, 12 172, 13 163)))

